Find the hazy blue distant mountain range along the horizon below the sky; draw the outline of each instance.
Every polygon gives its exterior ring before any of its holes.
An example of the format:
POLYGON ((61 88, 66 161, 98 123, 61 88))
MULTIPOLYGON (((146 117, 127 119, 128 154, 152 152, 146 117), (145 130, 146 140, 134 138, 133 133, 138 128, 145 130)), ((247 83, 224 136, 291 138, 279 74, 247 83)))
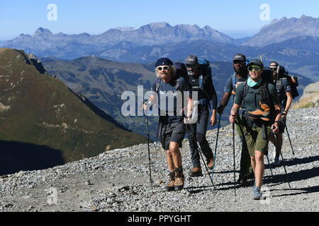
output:
POLYGON ((231 61, 233 54, 276 60, 304 76, 319 80, 319 18, 281 18, 264 26, 256 35, 241 39, 218 32, 209 26, 150 23, 138 29, 113 28, 100 35, 53 34, 38 28, 0 43, 2 47, 24 49, 38 57, 77 59, 95 56, 113 61, 149 63, 159 57, 184 59, 197 54, 211 61, 231 61))

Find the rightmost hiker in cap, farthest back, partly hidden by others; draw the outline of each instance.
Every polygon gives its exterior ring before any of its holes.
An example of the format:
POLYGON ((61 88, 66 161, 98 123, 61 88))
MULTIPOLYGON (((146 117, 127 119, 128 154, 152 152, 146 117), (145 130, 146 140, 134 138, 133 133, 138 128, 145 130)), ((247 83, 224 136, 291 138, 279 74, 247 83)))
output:
POLYGON ((272 61, 269 64, 269 68, 273 71, 274 84, 276 84, 277 95, 281 109, 284 110, 282 113, 281 126, 279 126, 279 133, 274 134, 270 138, 270 141, 274 143, 276 152, 274 153, 274 165, 280 165, 279 155, 281 153, 284 128, 286 124, 286 115, 288 114, 291 102, 293 100, 293 95, 291 93, 291 83, 290 81, 283 76, 286 73, 286 70, 283 66, 279 66, 276 61, 272 61), (278 69, 278 70, 277 70, 278 69))

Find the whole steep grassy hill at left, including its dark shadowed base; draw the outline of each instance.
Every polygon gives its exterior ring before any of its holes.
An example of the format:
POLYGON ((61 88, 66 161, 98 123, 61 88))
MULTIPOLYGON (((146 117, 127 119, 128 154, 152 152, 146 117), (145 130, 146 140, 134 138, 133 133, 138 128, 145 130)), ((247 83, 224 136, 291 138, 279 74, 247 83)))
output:
POLYGON ((0 49, 0 174, 146 142, 22 51, 0 49), (6 168, 2 168, 6 166, 6 168))

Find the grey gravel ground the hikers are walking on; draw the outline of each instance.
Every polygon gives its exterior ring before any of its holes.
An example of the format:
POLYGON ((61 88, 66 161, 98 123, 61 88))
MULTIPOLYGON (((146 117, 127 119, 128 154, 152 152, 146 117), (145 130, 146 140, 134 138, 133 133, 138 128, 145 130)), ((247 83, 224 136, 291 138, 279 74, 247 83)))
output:
MULTIPOLYGON (((168 179, 164 151, 159 143, 150 144, 152 179, 150 186, 147 145, 111 150, 89 159, 66 165, 0 177, 0 211, 318 211, 319 210, 319 123, 318 107, 289 112, 287 126, 293 143, 284 136, 284 167, 266 165, 264 199, 252 199, 251 186, 233 187, 232 128, 220 129, 215 188, 208 174, 190 178, 188 142, 181 148, 186 184, 184 190, 164 192, 168 179)), ((208 131, 215 148, 216 130, 208 131)), ((239 172, 240 141, 236 136, 236 177, 239 172)), ((269 147, 272 162, 273 146, 269 147)), ((265 157, 265 163, 267 159, 265 157)), ((236 178, 237 179, 237 178, 236 178)))

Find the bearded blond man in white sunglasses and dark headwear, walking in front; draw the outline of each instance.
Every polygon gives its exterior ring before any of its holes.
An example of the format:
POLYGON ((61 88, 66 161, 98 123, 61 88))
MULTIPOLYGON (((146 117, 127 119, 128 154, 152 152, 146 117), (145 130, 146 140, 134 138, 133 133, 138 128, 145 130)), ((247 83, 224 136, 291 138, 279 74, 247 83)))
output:
MULTIPOLYGON (((159 136, 167 158, 169 182, 165 191, 179 191, 184 188, 184 174, 181 162, 181 142, 185 136, 182 114, 183 94, 189 90, 187 81, 175 77, 176 69, 168 58, 160 58, 155 64, 157 79, 152 84, 150 101, 159 106, 159 136), (179 98, 181 97, 181 98, 179 98)), ((192 100, 188 97, 188 111, 191 112, 192 100)), ((147 105, 144 105, 147 109, 147 105)))

